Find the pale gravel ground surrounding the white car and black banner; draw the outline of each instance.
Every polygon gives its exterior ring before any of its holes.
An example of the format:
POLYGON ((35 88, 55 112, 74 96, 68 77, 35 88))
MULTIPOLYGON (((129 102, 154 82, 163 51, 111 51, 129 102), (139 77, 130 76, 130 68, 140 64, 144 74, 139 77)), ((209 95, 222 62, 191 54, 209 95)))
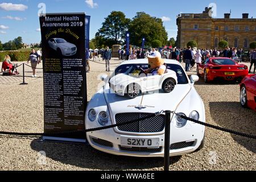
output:
MULTIPOLYGON (((91 67, 89 100, 101 82, 99 75, 105 73, 103 64, 92 63, 91 67)), ((22 72, 22 67, 19 71, 22 72)), ((30 75, 31 70, 26 67, 26 76, 30 75)), ((26 77, 28 85, 19 85, 22 77, 0 76, 1 131, 43 133, 42 70, 38 70, 37 75, 39 78, 26 77)), ((203 98, 208 123, 256 135, 256 113, 240 106, 239 85, 205 85, 201 79, 195 87, 203 98)), ((256 140, 209 128, 205 137, 203 150, 171 158, 170 170, 256 170, 256 140), (211 159, 216 163, 212 164, 211 159)), ((163 170, 162 158, 114 156, 83 144, 0 136, 0 147, 1 170, 163 170), (46 152, 45 160, 39 151, 46 152)))

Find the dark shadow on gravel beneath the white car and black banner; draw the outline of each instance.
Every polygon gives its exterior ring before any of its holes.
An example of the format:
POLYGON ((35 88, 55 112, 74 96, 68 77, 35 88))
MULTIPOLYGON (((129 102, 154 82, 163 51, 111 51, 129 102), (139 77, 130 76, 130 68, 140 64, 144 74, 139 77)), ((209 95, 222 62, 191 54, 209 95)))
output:
MULTIPOLYGON (((40 142, 30 144, 32 150, 45 151, 47 158, 56 162, 92 170, 123 171, 129 169, 150 169, 163 167, 163 158, 132 158, 115 156, 94 150, 85 144, 40 142)), ((170 158, 170 165, 179 162, 181 156, 170 158)))

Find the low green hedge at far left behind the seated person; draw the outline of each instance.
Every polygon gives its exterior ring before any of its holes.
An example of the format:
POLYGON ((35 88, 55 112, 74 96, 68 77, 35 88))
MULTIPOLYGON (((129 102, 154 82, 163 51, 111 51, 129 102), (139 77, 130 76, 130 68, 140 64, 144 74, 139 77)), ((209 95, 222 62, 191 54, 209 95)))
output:
POLYGON ((0 51, 0 62, 5 59, 6 55, 11 57, 11 61, 27 61, 30 51, 0 51))

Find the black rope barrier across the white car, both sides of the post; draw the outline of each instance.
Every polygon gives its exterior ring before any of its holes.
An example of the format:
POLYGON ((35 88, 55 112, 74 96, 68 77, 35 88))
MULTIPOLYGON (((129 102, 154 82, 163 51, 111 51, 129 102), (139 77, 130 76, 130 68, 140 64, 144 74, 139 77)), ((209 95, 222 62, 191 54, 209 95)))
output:
MULTIPOLYGON (((88 132, 92 132, 92 131, 106 130, 106 129, 110 129, 110 128, 118 127, 118 126, 130 125, 130 124, 135 123, 135 122, 144 122, 146 119, 155 117, 155 116, 163 114, 163 113, 165 113, 165 111, 162 110, 158 113, 154 113, 154 114, 148 115, 147 117, 143 117, 143 118, 140 118, 140 119, 134 119, 132 121, 118 123, 118 124, 115 124, 115 125, 97 127, 97 128, 94 128, 94 129, 86 129, 86 130, 82 130, 82 131, 64 131, 64 132, 59 132, 59 133, 48 133, 48 134, 44 134, 44 133, 14 133, 14 132, 0 131, 0 135, 17 135, 17 136, 27 136, 27 137, 29 137, 29 136, 45 136, 45 137, 48 137, 48 136, 54 136, 54 135, 56 136, 56 135, 65 135, 65 134, 74 134, 74 133, 88 133, 88 132)), ((241 137, 256 139, 256 135, 245 134, 245 133, 241 133, 241 132, 238 132, 238 131, 225 129, 225 128, 222 128, 222 127, 219 127, 219 126, 210 125, 208 123, 197 121, 195 119, 185 117, 184 115, 177 114, 174 111, 172 111, 171 113, 179 115, 179 117, 181 117, 183 119, 186 119, 188 121, 192 121, 192 122, 198 123, 199 125, 210 127, 212 129, 224 131, 224 132, 231 133, 231 134, 234 134, 234 135, 239 135, 241 137)))

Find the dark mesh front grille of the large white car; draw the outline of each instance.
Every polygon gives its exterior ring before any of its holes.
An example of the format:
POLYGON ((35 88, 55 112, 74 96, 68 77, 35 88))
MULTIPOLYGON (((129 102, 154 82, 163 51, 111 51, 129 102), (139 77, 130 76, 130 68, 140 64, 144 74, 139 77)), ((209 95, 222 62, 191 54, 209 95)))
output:
MULTIPOLYGON (((151 113, 121 113, 115 115, 117 124, 147 117, 151 113)), ((140 122, 118 126, 118 130, 132 133, 159 133, 164 130, 164 115, 158 115, 140 122)))

